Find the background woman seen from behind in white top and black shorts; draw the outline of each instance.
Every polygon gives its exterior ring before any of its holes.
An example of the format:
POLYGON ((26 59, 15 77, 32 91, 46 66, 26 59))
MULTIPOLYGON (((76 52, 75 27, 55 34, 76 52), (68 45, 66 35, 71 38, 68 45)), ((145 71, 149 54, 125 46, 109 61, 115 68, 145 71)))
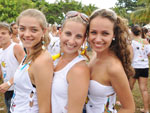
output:
POLYGON ((130 77, 131 90, 134 87, 136 80, 138 80, 139 88, 142 94, 144 109, 140 111, 149 113, 148 108, 148 73, 149 73, 149 60, 150 45, 146 39, 142 38, 142 30, 139 25, 135 25, 131 29, 133 33, 132 40, 132 66, 135 69, 134 77, 130 77))

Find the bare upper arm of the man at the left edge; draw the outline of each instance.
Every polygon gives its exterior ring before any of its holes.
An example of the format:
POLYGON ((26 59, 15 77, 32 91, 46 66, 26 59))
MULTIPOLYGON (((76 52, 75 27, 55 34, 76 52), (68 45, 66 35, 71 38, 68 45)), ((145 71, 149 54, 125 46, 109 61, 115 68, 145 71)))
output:
POLYGON ((15 55, 17 61, 20 64, 23 57, 25 56, 25 52, 24 52, 23 48, 20 45, 15 45, 14 46, 14 55, 15 55))

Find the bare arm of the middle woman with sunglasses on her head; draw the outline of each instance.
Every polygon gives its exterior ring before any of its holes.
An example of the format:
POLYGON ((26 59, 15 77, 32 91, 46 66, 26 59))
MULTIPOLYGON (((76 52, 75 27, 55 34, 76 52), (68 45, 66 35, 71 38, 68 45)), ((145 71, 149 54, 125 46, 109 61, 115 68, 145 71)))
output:
POLYGON ((67 75, 68 113, 82 113, 88 93, 90 72, 86 64, 80 63, 76 64, 67 75))

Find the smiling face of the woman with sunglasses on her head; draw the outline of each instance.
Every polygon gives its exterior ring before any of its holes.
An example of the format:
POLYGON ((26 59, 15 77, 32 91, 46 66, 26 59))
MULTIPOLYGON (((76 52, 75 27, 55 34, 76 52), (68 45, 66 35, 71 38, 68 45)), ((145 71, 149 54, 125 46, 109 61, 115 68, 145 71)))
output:
POLYGON ((64 53, 77 54, 85 40, 86 26, 80 22, 67 21, 62 29, 60 40, 64 53))

